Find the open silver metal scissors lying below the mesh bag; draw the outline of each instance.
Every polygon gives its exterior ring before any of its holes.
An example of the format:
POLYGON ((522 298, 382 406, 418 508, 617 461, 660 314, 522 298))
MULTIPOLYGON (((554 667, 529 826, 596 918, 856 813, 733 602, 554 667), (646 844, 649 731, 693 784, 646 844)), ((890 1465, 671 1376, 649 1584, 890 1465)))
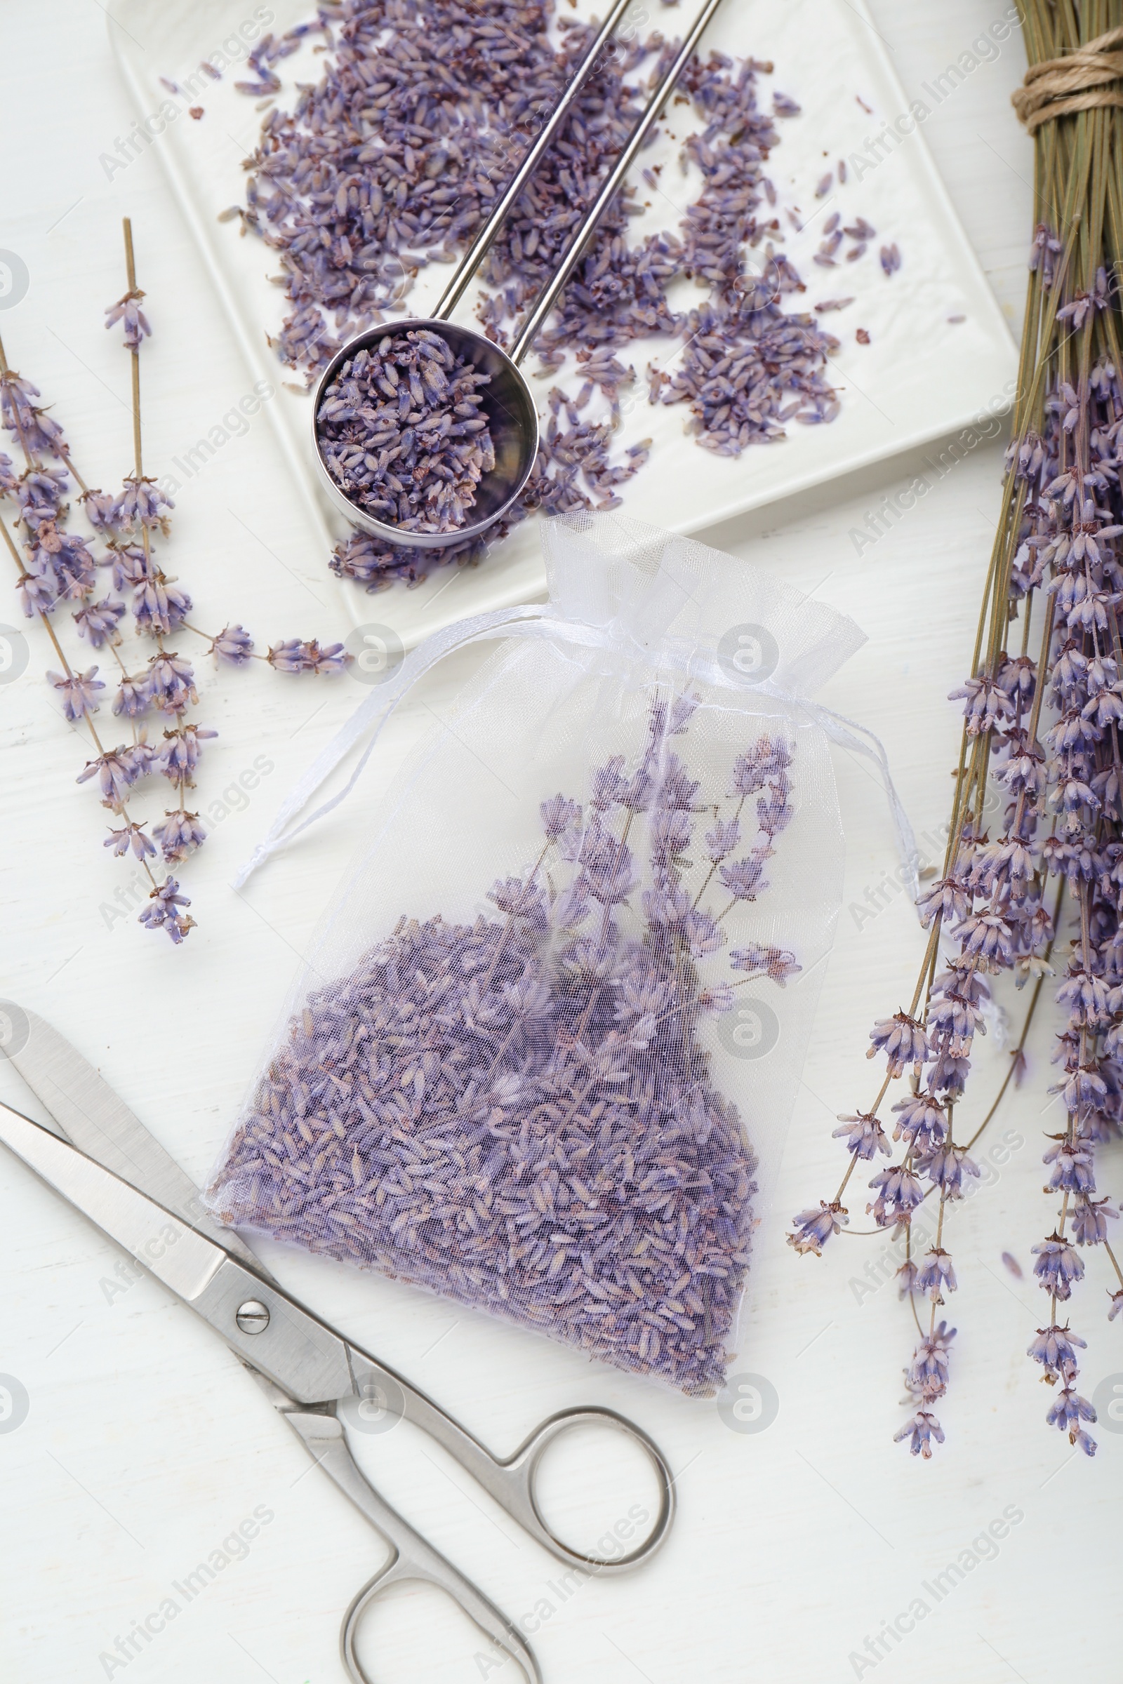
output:
MULTIPOLYGON (((12 1010, 8 1004, 8 1010, 12 1010)), ((561 1410, 500 1458, 386 1362, 315 1315, 273 1278, 249 1246, 204 1209, 199 1189, 113 1088, 62 1036, 22 1007, 27 1034, 3 1047, 52 1127, 0 1105, 0 1140, 56 1192, 130 1251, 227 1342, 288 1421, 313 1462, 391 1546, 391 1556, 347 1608, 340 1654, 355 1684, 372 1684, 355 1652, 355 1632, 379 1591, 421 1580, 446 1591, 497 1649, 542 1684, 534 1650, 519 1628, 421 1532, 397 1514, 360 1472, 347 1447, 340 1406, 386 1411, 429 1433, 515 1519, 569 1566, 621 1573, 655 1554, 675 1511, 673 1475, 648 1435, 615 1410, 561 1410), (572 1426, 596 1423, 633 1438, 648 1455, 660 1489, 648 1536, 615 1559, 571 1549, 542 1516, 535 1475, 544 1450, 572 1426)))

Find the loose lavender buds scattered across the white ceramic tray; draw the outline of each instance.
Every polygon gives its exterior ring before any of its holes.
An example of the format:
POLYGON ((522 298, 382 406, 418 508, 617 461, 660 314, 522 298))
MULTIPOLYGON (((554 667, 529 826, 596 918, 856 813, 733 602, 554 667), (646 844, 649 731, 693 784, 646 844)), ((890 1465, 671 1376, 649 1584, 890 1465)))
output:
MULTIPOLYGON (((458 258, 593 39, 589 25, 557 17, 554 0, 343 0, 322 5, 311 27, 323 35, 322 79, 296 84, 291 111, 266 113, 247 160, 246 205, 236 207, 242 227, 279 254, 276 281, 293 308, 274 344, 310 376, 340 344, 401 310, 421 269, 458 258)), ((256 79, 237 86, 254 96, 276 93, 271 66, 308 29, 263 37, 253 54, 256 79)), ((480 317, 498 344, 510 342, 552 274, 672 52, 658 32, 647 40, 633 32, 601 54, 483 266, 490 291, 480 317)), ((692 61, 677 104, 687 101, 702 121, 682 152, 684 168, 692 162, 700 170, 702 192, 677 231, 636 244, 630 226, 668 197, 657 173, 643 172, 652 200, 625 187, 609 207, 537 338, 539 374, 566 364, 577 384, 549 394, 535 472, 512 520, 529 509, 618 507, 620 487, 650 446, 613 456, 621 394, 630 408, 687 404, 697 443, 732 456, 783 438, 793 421, 837 414, 827 367, 838 340, 812 312, 785 310, 805 283, 778 249, 783 234, 766 163, 780 120, 796 118, 800 106, 776 93, 771 111, 759 108, 759 77, 771 69, 717 52, 692 61), (670 290, 682 280, 707 296, 673 308, 670 290), (663 367, 636 374, 620 354, 652 335, 668 340, 663 367)), ((867 239, 876 234, 862 217, 855 227, 867 239)), ((864 251, 865 241, 854 256, 864 251)), ((480 541, 418 552, 355 536, 332 566, 381 589, 396 578, 419 583, 428 568, 463 566, 480 552, 480 541)))

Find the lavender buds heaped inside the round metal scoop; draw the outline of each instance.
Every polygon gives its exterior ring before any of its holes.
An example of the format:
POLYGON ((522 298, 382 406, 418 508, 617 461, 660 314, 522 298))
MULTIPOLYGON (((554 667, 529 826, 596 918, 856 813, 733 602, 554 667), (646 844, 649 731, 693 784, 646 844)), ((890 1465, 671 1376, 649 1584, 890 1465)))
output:
POLYGON ((482 409, 483 374, 439 333, 386 333, 350 357, 317 413, 327 468, 375 520, 406 532, 455 532, 495 466, 482 409))

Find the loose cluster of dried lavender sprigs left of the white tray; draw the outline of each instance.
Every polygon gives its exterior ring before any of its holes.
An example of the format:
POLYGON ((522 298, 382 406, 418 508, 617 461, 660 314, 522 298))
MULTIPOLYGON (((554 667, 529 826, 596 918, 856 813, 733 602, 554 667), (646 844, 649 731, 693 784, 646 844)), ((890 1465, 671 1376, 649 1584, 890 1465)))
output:
POLYGON ((350 657, 342 643, 322 648, 298 640, 254 657, 253 638, 241 625, 227 625, 216 635, 190 625, 192 600, 160 559, 173 505, 143 472, 140 349, 152 328, 141 310, 145 295, 136 286, 128 221, 125 253, 128 291, 106 310, 106 327, 123 325, 131 359, 133 473, 116 497, 88 487, 61 424, 39 402, 39 387, 8 367, 0 345, 0 423, 24 458, 17 473, 12 458, 0 453, 0 502, 10 498, 19 509, 22 552, 3 522, 0 530, 19 569, 24 613, 44 626, 61 669, 47 672, 57 706, 64 719, 82 727, 94 749, 77 781, 94 783, 111 815, 104 845, 116 857, 136 861, 150 882, 140 923, 163 930, 178 945, 195 919, 187 911, 190 899, 180 893, 168 867, 178 867, 205 840, 205 823, 199 812, 189 810, 187 800, 195 788, 202 746, 217 736, 189 717, 199 694, 195 669, 175 647, 180 635, 202 637, 216 660, 229 665, 261 658, 285 672, 338 672, 350 657), (69 498, 82 509, 89 536, 67 524, 69 498), (98 544, 101 554, 91 547, 98 544), (108 588, 99 579, 103 573, 109 574, 108 588), (99 677, 99 663, 84 665, 81 645, 67 653, 67 616, 61 613, 67 606, 72 635, 116 667, 111 690, 99 677), (126 633, 131 635, 128 643, 126 633), (104 701, 125 733, 123 741, 106 738, 94 719, 104 701), (167 780, 172 807, 148 832, 148 820, 136 817, 133 800, 138 785, 153 776, 167 780))

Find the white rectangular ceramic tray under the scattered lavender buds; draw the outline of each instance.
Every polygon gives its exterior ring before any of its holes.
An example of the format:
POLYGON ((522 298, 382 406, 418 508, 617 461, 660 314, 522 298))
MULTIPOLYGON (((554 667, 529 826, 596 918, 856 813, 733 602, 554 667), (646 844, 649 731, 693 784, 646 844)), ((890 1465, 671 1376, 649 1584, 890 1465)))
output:
MULTIPOLYGON (((155 150, 253 377, 278 387, 266 413, 301 488, 310 542, 323 551, 327 571, 328 549, 342 529, 322 504, 311 473, 310 397, 281 384, 298 377, 278 364, 266 344, 266 330, 274 332, 286 310, 281 290, 268 281, 276 254, 256 237, 241 237, 237 221, 217 221, 221 210, 244 202, 242 158, 254 148, 261 113, 251 98, 234 91, 234 81, 244 74, 237 67, 224 71, 221 81, 197 76, 204 59, 221 64, 236 54, 244 57, 239 25, 279 34, 310 17, 311 7, 305 0, 271 0, 269 7, 254 12, 247 0, 192 0, 190 7, 167 0, 113 0, 109 10, 121 25, 109 32, 138 115, 158 113, 162 106, 167 115, 168 103, 177 108, 178 115, 165 121, 155 150), (192 74, 195 86, 202 84, 192 96, 172 96, 160 83, 163 76, 184 84, 192 74), (200 104, 204 116, 192 120, 189 104, 200 104)), ((588 13, 596 7, 581 0, 579 10, 588 13)), ((690 0, 682 0, 677 10, 650 8, 668 32, 677 17, 685 19, 692 10, 690 0)), ((638 20, 647 17, 643 7, 638 13, 638 20)), ((643 29, 650 27, 643 22, 643 29)), ((311 42, 317 39, 313 35, 311 42)), ((295 81, 320 76, 322 57, 313 56, 311 42, 276 66, 283 79, 278 103, 286 108, 295 81)), ((780 89, 803 108, 801 116, 778 123, 781 141, 768 163, 780 194, 781 249, 806 283, 803 298, 786 300, 788 308, 806 310, 847 295, 855 301, 822 317, 842 342, 828 370, 842 391, 842 411, 827 426, 791 424, 788 436, 774 445, 751 446, 739 458, 714 456, 684 433, 685 406, 650 406, 640 396, 618 440, 623 448, 650 436, 653 450, 621 495, 630 514, 679 532, 702 530, 968 426, 1002 404, 1015 372, 1014 342, 931 162, 923 121, 918 128, 906 116, 901 126, 913 131, 904 140, 869 150, 869 141, 886 123, 906 115, 909 103, 860 0, 785 0, 783 5, 726 0, 704 45, 771 59, 774 74, 759 77, 761 104, 769 106, 771 91, 780 89), (859 155, 867 158, 864 167, 855 167, 859 155), (817 200, 817 184, 838 158, 850 160, 845 185, 835 185, 828 199, 817 200), (881 162, 870 162, 877 158, 881 162), (785 214, 796 205, 801 229, 791 227, 785 214), (812 258, 822 224, 835 209, 844 212, 844 222, 864 216, 877 236, 859 263, 828 269, 812 258), (882 274, 877 256, 884 242, 896 242, 902 258, 902 268, 891 280, 882 274), (950 320, 953 317, 961 320, 950 320), (869 333, 869 345, 857 344, 859 327, 869 333)), ((694 120, 685 106, 672 106, 665 126, 670 135, 645 153, 645 163, 662 162, 663 170, 662 192, 643 192, 652 209, 645 219, 636 219, 640 231, 645 222, 675 227, 697 195, 697 179, 684 175, 679 165, 679 145, 694 120)), ((424 315, 446 276, 441 266, 424 269, 409 293, 407 312, 424 315)), ((689 283, 684 286, 687 291, 675 303, 689 301, 689 283)), ((465 322, 473 318, 468 300, 461 312, 465 322)), ((662 365, 673 349, 665 338, 640 340, 621 355, 641 377, 652 359, 662 365)), ((534 364, 529 367, 532 372, 534 364)), ((540 382, 542 399, 551 384, 540 382)), ((576 389, 576 381, 567 384, 576 389)), ((641 386, 636 391, 641 392, 641 386)), ((542 584, 535 522, 527 520, 493 544, 478 568, 436 568, 423 586, 394 586, 377 598, 350 586, 342 593, 357 623, 377 615, 411 647, 463 615, 534 600, 542 584)))

